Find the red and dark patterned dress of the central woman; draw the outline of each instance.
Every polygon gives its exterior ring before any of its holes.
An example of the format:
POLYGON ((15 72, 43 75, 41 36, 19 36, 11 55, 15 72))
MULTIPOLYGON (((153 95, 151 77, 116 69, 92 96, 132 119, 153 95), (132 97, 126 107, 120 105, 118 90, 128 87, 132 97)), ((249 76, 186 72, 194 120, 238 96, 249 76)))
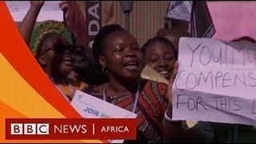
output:
MULTIPOLYGON (((106 84, 105 84, 106 86, 106 84)), ((168 106, 166 98, 167 85, 160 82, 142 79, 141 90, 135 113, 137 117, 137 141, 162 142, 162 120, 168 106)), ((89 86, 83 90, 87 94, 103 99, 98 86, 89 86)), ((126 110, 132 111, 134 94, 106 96, 106 101, 126 110)))

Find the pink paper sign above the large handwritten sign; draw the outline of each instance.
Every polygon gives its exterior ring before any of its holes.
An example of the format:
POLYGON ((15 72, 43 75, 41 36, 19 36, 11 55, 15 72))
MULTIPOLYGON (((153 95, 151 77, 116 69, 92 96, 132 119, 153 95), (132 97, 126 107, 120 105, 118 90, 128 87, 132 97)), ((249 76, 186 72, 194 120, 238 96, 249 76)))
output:
POLYGON ((256 2, 207 1, 206 3, 216 29, 213 38, 232 41, 248 36, 256 39, 256 2))

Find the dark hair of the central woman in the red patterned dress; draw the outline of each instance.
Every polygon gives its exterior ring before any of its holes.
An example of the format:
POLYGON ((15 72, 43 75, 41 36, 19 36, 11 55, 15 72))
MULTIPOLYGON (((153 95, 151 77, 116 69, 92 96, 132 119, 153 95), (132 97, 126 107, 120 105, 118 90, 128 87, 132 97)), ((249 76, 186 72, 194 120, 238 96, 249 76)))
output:
POLYGON ((94 60, 98 64, 98 57, 102 54, 103 48, 105 46, 105 38, 115 32, 115 31, 126 31, 122 28, 122 26, 119 26, 117 24, 112 25, 106 25, 102 27, 101 30, 98 31, 98 34, 94 38, 94 44, 92 46, 93 54, 94 54, 94 60))

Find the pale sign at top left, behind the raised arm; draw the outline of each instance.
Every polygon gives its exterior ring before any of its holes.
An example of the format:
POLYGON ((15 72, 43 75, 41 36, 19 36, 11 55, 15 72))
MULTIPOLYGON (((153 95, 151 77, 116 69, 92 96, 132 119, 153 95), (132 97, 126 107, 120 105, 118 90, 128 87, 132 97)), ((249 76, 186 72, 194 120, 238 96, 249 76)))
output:
MULTIPOLYGON (((37 22, 50 19, 63 21, 63 12, 58 6, 59 2, 60 1, 46 1, 38 14, 37 22)), ((14 22, 22 22, 22 19, 30 9, 30 1, 6 1, 6 6, 14 22)))

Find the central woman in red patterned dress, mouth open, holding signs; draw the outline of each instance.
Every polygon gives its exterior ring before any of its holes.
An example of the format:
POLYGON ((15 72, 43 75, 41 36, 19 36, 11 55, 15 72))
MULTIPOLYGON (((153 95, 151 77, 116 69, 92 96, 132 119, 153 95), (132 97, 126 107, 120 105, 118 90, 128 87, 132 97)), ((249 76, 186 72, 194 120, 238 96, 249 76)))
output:
POLYGON ((129 32, 118 25, 104 26, 94 39, 93 54, 109 80, 89 86, 86 93, 138 114, 138 141, 181 138, 183 122, 171 120, 171 91, 164 83, 140 77, 145 62, 137 40, 129 32))

